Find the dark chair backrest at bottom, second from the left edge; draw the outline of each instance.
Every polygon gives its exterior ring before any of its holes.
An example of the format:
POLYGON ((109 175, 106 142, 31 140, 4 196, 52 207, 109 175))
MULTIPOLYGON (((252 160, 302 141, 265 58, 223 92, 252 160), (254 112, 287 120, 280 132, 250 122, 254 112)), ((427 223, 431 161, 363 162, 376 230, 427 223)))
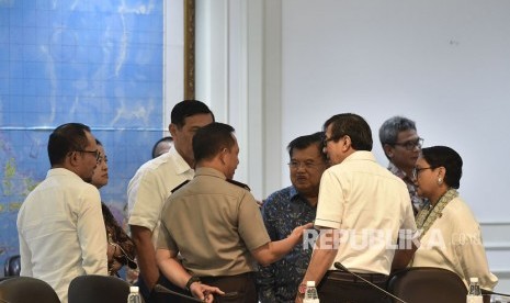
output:
POLYGON ((126 303, 129 283, 111 276, 79 276, 69 284, 69 303, 126 303))

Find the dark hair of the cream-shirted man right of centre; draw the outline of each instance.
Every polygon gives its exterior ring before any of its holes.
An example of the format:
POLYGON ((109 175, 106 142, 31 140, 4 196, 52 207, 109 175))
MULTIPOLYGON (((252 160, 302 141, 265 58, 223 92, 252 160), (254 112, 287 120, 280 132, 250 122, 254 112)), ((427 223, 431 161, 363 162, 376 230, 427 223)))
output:
POLYGON ((352 148, 355 150, 372 150, 372 131, 369 123, 358 114, 341 113, 328 119, 324 124, 324 131, 331 125, 331 139, 338 142, 348 135, 351 138, 352 148))

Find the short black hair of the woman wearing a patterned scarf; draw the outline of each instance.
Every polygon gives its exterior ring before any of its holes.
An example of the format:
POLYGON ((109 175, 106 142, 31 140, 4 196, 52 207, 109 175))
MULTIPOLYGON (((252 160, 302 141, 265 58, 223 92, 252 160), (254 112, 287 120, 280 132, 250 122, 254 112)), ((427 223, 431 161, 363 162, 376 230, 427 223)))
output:
POLYGON ((432 146, 421 149, 421 157, 431 168, 444 167, 444 182, 454 189, 461 187, 462 157, 453 148, 447 146, 432 146))

